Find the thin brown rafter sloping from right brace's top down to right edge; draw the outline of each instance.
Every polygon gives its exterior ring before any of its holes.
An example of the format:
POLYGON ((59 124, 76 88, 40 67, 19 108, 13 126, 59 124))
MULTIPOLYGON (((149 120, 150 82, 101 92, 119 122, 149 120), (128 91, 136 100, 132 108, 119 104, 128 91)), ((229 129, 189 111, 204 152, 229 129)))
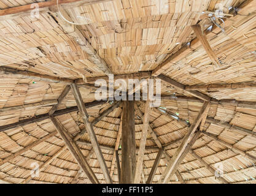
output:
POLYGON ((242 134, 246 134, 246 135, 250 135, 252 137, 256 137, 256 132, 253 132, 252 130, 244 129, 242 127, 238 127, 238 126, 235 126, 233 124, 229 124, 227 122, 222 122, 222 121, 220 121, 218 119, 214 119, 214 118, 209 118, 208 117, 208 118, 206 118, 206 122, 212 123, 212 124, 216 124, 217 126, 223 127, 225 129, 235 130, 238 133, 242 132, 242 134))

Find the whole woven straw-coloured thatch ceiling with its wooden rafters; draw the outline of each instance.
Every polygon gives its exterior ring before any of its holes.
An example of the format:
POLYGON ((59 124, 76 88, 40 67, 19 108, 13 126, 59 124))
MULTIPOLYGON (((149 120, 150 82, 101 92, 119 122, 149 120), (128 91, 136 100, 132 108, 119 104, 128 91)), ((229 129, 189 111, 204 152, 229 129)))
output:
POLYGON ((0 183, 118 183, 123 105, 94 93, 107 74, 161 79, 160 107, 134 102, 138 183, 256 183, 256 0, 56 4, 0 1, 0 183))

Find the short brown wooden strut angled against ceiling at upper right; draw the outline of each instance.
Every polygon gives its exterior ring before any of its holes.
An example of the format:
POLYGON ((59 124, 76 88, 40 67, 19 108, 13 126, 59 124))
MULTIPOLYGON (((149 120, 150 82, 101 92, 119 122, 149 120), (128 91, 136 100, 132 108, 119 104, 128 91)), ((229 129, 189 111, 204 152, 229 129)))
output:
POLYGON ((204 47, 204 50, 208 54, 209 58, 212 60, 212 63, 215 66, 220 66, 219 59, 217 55, 214 53, 214 51, 211 48, 211 45, 209 44, 208 40, 206 39, 206 36, 202 34, 202 29, 200 25, 192 25, 191 26, 193 31, 196 34, 196 37, 200 40, 201 44, 204 47))

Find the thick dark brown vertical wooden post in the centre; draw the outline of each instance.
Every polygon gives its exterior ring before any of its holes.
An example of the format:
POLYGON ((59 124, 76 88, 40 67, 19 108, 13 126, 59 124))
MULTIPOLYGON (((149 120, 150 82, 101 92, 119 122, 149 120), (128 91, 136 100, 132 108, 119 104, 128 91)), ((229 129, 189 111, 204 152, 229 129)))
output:
POLYGON ((124 100, 122 111, 121 184, 132 184, 136 170, 134 101, 124 100))

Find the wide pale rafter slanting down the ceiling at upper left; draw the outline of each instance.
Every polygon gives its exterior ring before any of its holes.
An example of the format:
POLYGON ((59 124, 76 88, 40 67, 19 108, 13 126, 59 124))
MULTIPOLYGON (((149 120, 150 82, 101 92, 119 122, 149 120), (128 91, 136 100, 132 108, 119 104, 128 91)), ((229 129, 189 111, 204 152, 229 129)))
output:
MULTIPOLYGON (((58 7, 60 9, 61 15, 66 18, 66 20, 72 21, 68 12, 64 10, 61 6, 58 7)), ((111 70, 107 66, 104 59, 102 59, 98 55, 98 51, 96 51, 90 44, 90 42, 83 36, 82 32, 80 32, 79 28, 76 25, 72 25, 64 20, 61 17, 60 12, 58 12, 58 8, 55 6, 50 7, 52 11, 52 15, 54 15, 55 20, 58 21, 58 25, 61 26, 63 31, 71 37, 74 37, 74 41, 80 45, 80 48, 84 50, 88 54, 88 60, 95 64, 99 70, 103 72, 103 74, 112 74, 111 70)))

